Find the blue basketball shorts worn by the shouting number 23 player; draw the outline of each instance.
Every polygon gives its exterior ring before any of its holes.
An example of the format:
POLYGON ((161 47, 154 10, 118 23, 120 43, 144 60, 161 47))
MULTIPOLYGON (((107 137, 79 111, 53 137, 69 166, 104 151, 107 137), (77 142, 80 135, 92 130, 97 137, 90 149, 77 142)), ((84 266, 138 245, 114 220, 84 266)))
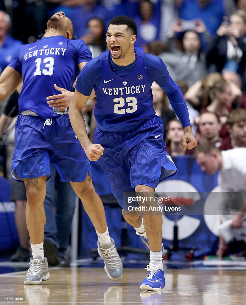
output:
POLYGON ((158 116, 114 132, 97 128, 94 143, 105 149, 99 160, 121 207, 124 192, 135 191, 137 185, 156 188, 177 173, 165 150, 163 123, 158 116))

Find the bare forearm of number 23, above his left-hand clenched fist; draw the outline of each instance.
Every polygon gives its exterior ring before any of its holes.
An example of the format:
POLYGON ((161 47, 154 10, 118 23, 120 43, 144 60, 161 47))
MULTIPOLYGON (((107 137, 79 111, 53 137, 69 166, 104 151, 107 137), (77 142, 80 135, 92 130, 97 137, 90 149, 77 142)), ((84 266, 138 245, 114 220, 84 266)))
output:
MULTIPOLYGON (((83 109, 83 108, 82 108, 83 109)), ((84 117, 82 115, 82 109, 78 109, 73 102, 71 102, 69 107, 69 118, 73 130, 78 137, 80 144, 83 149, 85 149, 91 141, 87 136, 86 125, 84 121, 84 117)))

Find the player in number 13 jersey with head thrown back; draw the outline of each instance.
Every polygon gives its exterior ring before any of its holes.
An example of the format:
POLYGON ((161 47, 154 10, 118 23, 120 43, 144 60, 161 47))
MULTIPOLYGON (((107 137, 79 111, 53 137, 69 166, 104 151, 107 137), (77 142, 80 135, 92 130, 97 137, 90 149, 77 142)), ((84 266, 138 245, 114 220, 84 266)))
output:
POLYGON ((49 162, 61 181, 70 181, 80 197, 100 240, 101 256, 109 278, 122 276, 122 262, 110 239, 102 201, 91 182, 90 163, 75 136, 68 110, 49 107, 47 93, 57 82, 72 91, 79 69, 91 60, 91 51, 83 40, 73 40, 73 25, 63 12, 55 13, 47 23, 41 40, 20 46, 0 77, 0 99, 5 99, 23 80, 16 122, 12 178, 25 183, 26 222, 32 258, 24 284, 40 284, 50 277, 44 257, 44 199, 49 162))

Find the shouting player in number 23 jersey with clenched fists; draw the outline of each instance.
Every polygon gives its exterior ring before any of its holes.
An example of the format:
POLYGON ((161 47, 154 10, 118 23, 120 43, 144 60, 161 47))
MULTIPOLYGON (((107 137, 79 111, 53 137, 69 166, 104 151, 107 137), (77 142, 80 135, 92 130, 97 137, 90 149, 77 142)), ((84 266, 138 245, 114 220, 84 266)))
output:
MULTIPOLYGON (((163 123, 155 116, 151 85, 155 81, 169 97, 184 128, 183 148, 191 149, 197 142, 186 103, 180 88, 169 77, 159 57, 134 48, 137 26, 127 16, 113 18, 107 31, 109 51, 90 61, 80 72, 69 116, 73 129, 89 160, 100 158, 112 192, 123 207, 123 192, 152 194, 160 181, 173 176, 176 167, 167 155, 163 141, 163 123), (98 128, 95 143, 86 133, 82 109, 94 88, 97 103, 95 118, 98 128)), ((154 204, 154 203, 152 203, 154 204)), ((161 290, 165 285, 162 265, 162 215, 126 215, 137 235, 150 249, 144 290, 161 290), (146 232, 145 232, 146 231, 146 232), (147 239, 148 238, 148 239, 147 239)))

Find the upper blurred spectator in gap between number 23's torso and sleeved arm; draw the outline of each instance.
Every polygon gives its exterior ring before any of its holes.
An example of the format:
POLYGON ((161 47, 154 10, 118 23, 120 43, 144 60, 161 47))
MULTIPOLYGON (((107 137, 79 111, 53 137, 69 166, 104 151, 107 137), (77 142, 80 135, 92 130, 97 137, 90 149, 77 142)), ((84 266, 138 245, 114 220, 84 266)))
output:
MULTIPOLYGON (((155 109, 155 114, 161 117, 163 122, 163 138, 166 138, 166 125, 168 122, 174 118, 176 118, 175 112, 168 107, 168 99, 166 93, 162 90, 162 88, 153 82, 151 86, 152 94, 153 94, 153 107, 155 109)), ((182 129, 183 130, 183 129, 182 129)))

